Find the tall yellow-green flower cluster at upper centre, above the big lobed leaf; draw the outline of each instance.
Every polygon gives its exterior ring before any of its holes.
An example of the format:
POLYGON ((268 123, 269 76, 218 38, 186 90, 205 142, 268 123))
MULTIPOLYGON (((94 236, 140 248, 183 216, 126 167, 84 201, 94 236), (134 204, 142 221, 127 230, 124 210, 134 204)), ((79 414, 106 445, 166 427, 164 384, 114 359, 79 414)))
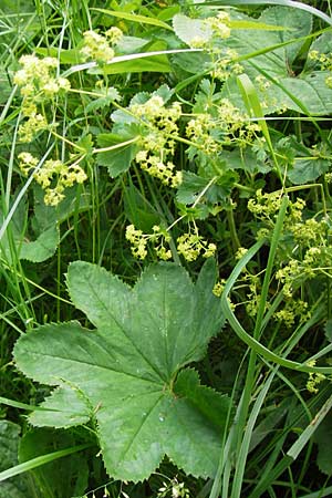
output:
POLYGON ((176 170, 172 158, 178 135, 177 121, 181 115, 180 104, 174 102, 166 107, 159 95, 153 95, 144 104, 132 104, 129 112, 143 125, 136 162, 164 185, 177 187, 181 183, 181 173, 176 170))

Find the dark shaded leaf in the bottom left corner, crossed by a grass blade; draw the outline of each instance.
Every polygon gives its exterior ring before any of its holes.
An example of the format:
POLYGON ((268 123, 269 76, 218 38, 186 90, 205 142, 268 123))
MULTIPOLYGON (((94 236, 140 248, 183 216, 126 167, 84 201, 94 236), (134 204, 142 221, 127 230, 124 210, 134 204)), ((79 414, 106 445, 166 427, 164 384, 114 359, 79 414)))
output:
MULTIPOLYGON (((9 421, 0 421, 0 471, 18 463, 18 445, 21 427, 9 421)), ((0 498, 25 498, 28 487, 21 476, 0 485, 0 498)))

